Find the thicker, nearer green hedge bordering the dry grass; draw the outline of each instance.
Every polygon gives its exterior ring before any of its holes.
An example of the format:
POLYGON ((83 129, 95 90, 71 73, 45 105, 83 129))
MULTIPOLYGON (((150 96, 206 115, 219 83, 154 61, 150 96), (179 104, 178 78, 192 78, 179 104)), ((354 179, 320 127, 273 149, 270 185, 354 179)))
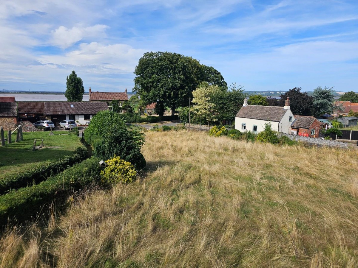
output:
POLYGON ((53 200, 67 199, 73 191, 98 182, 101 171, 99 161, 95 157, 86 159, 37 185, 1 195, 0 226, 7 224, 8 218, 22 222, 36 217, 53 200))

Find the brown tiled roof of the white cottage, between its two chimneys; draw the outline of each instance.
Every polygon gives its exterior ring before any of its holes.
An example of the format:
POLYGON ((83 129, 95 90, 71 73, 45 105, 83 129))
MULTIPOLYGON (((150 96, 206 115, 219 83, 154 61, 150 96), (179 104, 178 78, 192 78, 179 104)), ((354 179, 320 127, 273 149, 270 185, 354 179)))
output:
POLYGON ((241 107, 236 117, 280 122, 286 111, 278 106, 246 105, 241 107))

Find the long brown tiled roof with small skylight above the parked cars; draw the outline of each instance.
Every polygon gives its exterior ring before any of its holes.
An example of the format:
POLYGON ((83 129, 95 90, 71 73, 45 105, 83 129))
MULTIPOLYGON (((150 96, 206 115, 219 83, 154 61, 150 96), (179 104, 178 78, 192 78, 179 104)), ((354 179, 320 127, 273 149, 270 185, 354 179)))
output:
POLYGON ((108 110, 108 105, 100 101, 45 101, 44 114, 97 114, 103 110, 108 110))

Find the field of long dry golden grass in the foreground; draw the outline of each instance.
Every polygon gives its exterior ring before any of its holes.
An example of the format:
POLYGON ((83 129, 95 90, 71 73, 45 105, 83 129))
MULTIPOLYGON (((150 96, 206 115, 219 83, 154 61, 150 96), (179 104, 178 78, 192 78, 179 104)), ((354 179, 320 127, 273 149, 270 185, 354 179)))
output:
POLYGON ((184 130, 147 132, 142 151, 135 183, 9 228, 0 266, 358 267, 357 150, 184 130))

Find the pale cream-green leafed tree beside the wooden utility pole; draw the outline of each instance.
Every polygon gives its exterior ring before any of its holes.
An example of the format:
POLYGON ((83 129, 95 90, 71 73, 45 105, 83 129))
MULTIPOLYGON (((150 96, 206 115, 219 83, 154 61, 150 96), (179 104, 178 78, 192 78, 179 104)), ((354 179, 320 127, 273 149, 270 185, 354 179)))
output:
POLYGON ((215 104, 211 102, 210 97, 219 91, 222 91, 222 89, 217 85, 209 85, 207 82, 200 83, 193 91, 193 109, 197 116, 206 119, 208 122, 217 121, 214 118, 216 113, 215 104))

